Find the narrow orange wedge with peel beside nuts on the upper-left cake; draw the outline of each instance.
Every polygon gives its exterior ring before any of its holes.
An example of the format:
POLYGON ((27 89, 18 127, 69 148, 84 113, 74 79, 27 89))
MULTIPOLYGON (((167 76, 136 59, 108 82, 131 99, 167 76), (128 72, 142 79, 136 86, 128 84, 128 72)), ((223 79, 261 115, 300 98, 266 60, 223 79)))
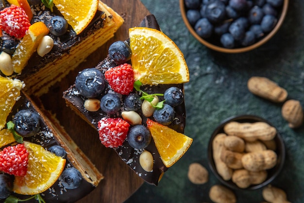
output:
POLYGON ((16 51, 12 56, 14 72, 20 74, 28 60, 36 51, 43 36, 49 33, 49 29, 43 22, 35 22, 29 27, 28 32, 20 40, 16 51))

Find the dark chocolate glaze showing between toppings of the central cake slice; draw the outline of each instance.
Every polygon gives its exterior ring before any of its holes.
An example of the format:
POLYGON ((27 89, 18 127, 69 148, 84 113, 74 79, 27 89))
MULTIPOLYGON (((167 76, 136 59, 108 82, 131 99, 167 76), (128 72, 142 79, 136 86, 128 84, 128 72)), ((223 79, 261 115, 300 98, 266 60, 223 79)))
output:
MULTIPOLYGON (((144 18, 144 20, 140 23, 139 27, 149 27, 153 29, 160 30, 157 21, 153 15, 149 15, 144 18)), ((128 41, 128 40, 127 40, 128 41)), ((116 67, 117 64, 109 57, 109 55, 101 61, 95 68, 101 71, 102 74, 105 74, 107 70, 110 70, 113 67, 116 67)), ((177 87, 183 91, 183 84, 171 84, 171 85, 143 85, 141 86, 141 90, 144 92, 148 92, 149 94, 152 93, 164 93, 170 87, 177 87)), ((104 92, 101 93, 100 96, 96 97, 96 99, 100 100, 103 95, 108 92, 113 92, 109 84, 106 84, 104 92)), ((134 93, 139 93, 138 91, 133 90, 134 93)), ((140 93, 139 93, 140 94, 140 93)), ((122 95, 121 100, 125 99, 126 95, 122 95)), ((99 129, 98 121, 102 118, 108 117, 107 113, 104 111, 87 111, 84 108, 84 101, 86 98, 81 95, 81 92, 76 88, 76 85, 72 85, 67 91, 63 92, 63 98, 66 100, 66 103, 69 107, 72 108, 78 115, 80 115, 85 121, 87 121, 93 128, 99 129)), ((159 96, 159 100, 164 100, 163 96, 159 96)), ((118 117, 121 117, 121 111, 119 110, 118 117)), ((184 128, 186 125, 186 110, 185 110, 185 103, 181 103, 178 106, 174 107, 175 117, 173 122, 169 124, 169 128, 176 130, 177 132, 184 133, 184 128)), ((139 112, 142 123, 145 125, 147 121, 147 117, 145 117, 141 112, 139 112)), ((116 115, 114 116, 116 117, 116 115)), ((139 156, 142 153, 142 149, 136 149, 130 146, 128 141, 124 141, 122 146, 114 148, 117 154, 121 157, 121 159, 130 166, 131 169, 135 171, 135 173, 140 176, 143 180, 147 183, 152 185, 158 185, 159 180, 161 179, 164 172, 168 170, 160 158, 160 154, 158 153, 155 144, 153 143, 153 139, 149 146, 145 148, 152 153, 154 165, 151 172, 145 171, 140 163, 139 163, 139 156)))

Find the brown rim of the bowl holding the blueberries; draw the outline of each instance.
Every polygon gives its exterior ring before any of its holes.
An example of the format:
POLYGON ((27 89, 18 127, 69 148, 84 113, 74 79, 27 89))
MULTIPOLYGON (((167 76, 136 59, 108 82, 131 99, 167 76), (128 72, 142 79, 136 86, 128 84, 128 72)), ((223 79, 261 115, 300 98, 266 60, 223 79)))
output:
POLYGON ((242 52, 248 52, 251 51, 259 46, 261 46, 262 44, 265 44, 271 37, 274 36, 274 34, 279 30, 279 28, 281 27, 285 17, 286 17, 286 13, 287 13, 287 8, 288 8, 288 1, 289 0, 284 0, 283 3, 283 7, 282 7, 282 11, 279 14, 279 18, 278 18, 278 22, 275 25, 275 27, 273 28, 273 30, 268 33, 265 37, 263 37, 262 39, 260 39, 259 41, 255 42, 254 44, 247 46, 247 47, 242 47, 242 48, 234 48, 234 49, 228 49, 228 48, 224 48, 221 47, 220 45, 216 45, 213 44, 212 42, 210 42, 210 40, 205 40, 202 37, 200 37, 194 30, 194 28, 190 25, 187 17, 186 17, 186 6, 185 6, 185 2, 184 0, 180 0, 180 10, 181 10, 181 14, 182 14, 182 18, 186 24, 187 29, 190 31, 190 33, 197 39, 199 40, 203 45, 205 45, 206 47, 218 51, 218 52, 223 52, 223 53, 230 53, 230 54, 234 54, 234 53, 242 53, 242 52))

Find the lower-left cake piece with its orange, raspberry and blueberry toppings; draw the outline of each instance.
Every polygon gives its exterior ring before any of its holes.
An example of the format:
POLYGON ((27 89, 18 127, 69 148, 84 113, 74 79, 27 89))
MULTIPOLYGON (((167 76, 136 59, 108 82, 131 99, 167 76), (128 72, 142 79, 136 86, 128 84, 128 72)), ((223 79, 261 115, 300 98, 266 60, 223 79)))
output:
POLYGON ((8 114, 4 126, 0 120, 0 199, 75 202, 103 176, 23 87, 18 79, 0 76, 0 111, 8 114))

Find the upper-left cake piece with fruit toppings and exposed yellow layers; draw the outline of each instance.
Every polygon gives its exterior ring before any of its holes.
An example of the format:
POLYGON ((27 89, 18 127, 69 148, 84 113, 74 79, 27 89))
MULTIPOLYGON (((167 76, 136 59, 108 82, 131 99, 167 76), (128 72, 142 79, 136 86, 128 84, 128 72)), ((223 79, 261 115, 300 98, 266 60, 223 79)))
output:
POLYGON ((113 37, 123 23, 100 0, 29 2, 1 0, 0 60, 5 59, 5 65, 0 65, 0 71, 23 80, 25 91, 36 96, 48 92, 49 87, 113 37), (17 12, 23 12, 22 20, 11 15, 17 12), (11 32, 12 21, 19 24, 11 32), (25 32, 20 32, 21 28, 25 32))

